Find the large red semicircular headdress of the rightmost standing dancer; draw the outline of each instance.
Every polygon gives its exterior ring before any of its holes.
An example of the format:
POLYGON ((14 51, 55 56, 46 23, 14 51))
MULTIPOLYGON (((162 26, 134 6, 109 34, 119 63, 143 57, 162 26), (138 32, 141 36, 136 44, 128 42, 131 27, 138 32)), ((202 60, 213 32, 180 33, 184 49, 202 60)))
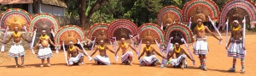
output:
POLYGON ((224 26, 227 17, 230 18, 229 23, 234 20, 241 22, 244 16, 247 16, 247 24, 250 23, 252 28, 254 28, 254 24, 256 24, 256 6, 254 3, 250 0, 230 0, 222 8, 219 18, 220 24, 218 25, 224 26))

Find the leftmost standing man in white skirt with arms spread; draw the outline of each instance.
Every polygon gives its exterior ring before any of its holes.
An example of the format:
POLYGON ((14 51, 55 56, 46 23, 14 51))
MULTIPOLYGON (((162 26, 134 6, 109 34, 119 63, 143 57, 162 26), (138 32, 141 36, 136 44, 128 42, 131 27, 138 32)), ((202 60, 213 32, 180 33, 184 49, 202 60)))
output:
MULTIPOLYGON (((9 37, 9 40, 6 42, 3 42, 3 44, 8 43, 12 38, 14 38, 14 45, 10 47, 9 49, 9 56, 10 57, 15 57, 15 62, 16 62, 16 66, 15 68, 24 68, 24 56, 25 56, 25 52, 24 52, 24 48, 23 46, 20 45, 21 43, 21 38, 24 41, 27 41, 26 38, 18 31, 18 27, 15 27, 15 32, 9 37), (19 65, 18 63, 18 57, 21 57, 21 65, 19 65)), ((27 41, 27 42, 31 42, 31 41, 27 41)))

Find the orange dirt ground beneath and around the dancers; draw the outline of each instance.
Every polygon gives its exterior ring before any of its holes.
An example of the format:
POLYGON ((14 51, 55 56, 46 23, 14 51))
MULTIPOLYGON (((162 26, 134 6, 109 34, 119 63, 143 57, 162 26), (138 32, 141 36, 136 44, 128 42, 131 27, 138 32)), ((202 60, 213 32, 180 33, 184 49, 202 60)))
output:
MULTIPOLYGON (((110 66, 95 65, 94 62, 88 61, 88 57, 85 57, 84 62, 86 62, 86 64, 82 66, 67 67, 64 59, 64 53, 60 52, 54 53, 54 57, 50 58, 50 63, 53 65, 52 67, 40 68, 39 65, 41 61, 36 57, 36 55, 33 55, 31 51, 27 50, 25 58, 26 68, 15 68, 15 59, 9 57, 8 52, 0 53, 0 74, 1 76, 255 76, 256 59, 253 57, 253 55, 256 55, 256 52, 253 52, 256 44, 255 38, 256 35, 246 36, 247 56, 245 59, 245 74, 240 73, 240 60, 236 61, 236 73, 227 72, 227 70, 232 66, 232 57, 227 57, 227 51, 224 48, 225 37, 223 44, 218 45, 218 40, 214 39, 212 36, 207 37, 210 49, 210 52, 207 54, 208 71, 202 71, 198 68, 200 62, 198 56, 195 55, 193 55, 196 62, 195 66, 188 60, 189 68, 182 70, 180 68, 173 68, 170 66, 160 68, 160 65, 156 67, 140 67, 137 56, 135 55, 133 66, 122 65, 120 63, 120 58, 118 62, 114 61, 114 55, 111 52, 108 52, 108 56, 112 63, 110 66)), ((157 49, 157 46, 153 46, 157 49)), ((184 46, 182 47, 184 48, 184 46)), ((192 49, 191 46, 190 49, 192 49)), ((86 52, 90 53, 89 50, 86 52)), ((118 55, 120 57, 121 52, 119 52, 118 55)))

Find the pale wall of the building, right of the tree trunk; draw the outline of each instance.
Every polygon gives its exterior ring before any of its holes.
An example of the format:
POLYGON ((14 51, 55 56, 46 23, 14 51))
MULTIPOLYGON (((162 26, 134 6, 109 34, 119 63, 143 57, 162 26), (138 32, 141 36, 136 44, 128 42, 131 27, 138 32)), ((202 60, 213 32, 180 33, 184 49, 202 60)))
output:
POLYGON ((47 4, 41 4, 42 13, 48 13, 52 15, 64 16, 65 9, 61 7, 51 6, 47 4))

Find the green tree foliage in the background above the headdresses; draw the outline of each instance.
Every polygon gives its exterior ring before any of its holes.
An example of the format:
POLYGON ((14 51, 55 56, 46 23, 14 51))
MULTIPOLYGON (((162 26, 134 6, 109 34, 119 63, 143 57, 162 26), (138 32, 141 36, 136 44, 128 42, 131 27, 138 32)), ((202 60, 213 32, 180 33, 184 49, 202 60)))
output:
MULTIPOLYGON (((79 17, 79 0, 70 0, 67 3, 66 15, 72 17, 79 17)), ((85 16, 90 12, 92 6, 98 0, 85 0, 85 16)), ((160 9, 169 5, 177 6, 182 9, 183 5, 190 0, 106 0, 102 7, 90 16, 90 24, 99 22, 111 23, 116 19, 129 19, 138 26, 144 23, 156 23, 157 14, 160 9)), ((224 6, 229 0, 212 0, 217 3, 218 8, 224 6)), ((251 0, 255 2, 256 0, 251 0)))

